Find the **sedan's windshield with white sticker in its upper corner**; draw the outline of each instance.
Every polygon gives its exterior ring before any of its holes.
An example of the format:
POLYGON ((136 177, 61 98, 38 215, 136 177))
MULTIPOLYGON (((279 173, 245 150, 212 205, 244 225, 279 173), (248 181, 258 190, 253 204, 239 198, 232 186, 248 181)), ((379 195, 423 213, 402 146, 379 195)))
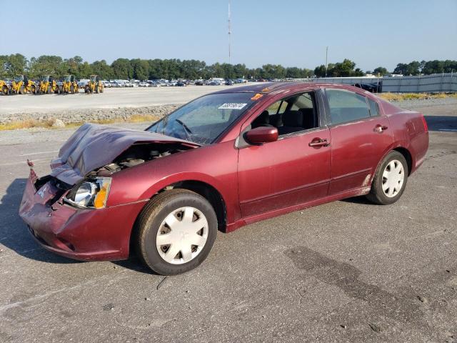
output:
POLYGON ((157 121, 148 131, 198 144, 211 144, 252 104, 253 93, 202 96, 157 121))

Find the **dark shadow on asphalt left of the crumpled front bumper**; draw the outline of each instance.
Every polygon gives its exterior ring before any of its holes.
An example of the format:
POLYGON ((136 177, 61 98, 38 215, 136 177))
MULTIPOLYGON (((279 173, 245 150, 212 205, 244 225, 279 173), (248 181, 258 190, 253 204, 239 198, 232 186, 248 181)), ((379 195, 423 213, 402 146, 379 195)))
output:
POLYGON ((48 252, 31 237, 26 224, 19 217, 19 206, 27 179, 15 179, 0 199, 0 244, 28 259, 66 264, 81 263, 48 252))

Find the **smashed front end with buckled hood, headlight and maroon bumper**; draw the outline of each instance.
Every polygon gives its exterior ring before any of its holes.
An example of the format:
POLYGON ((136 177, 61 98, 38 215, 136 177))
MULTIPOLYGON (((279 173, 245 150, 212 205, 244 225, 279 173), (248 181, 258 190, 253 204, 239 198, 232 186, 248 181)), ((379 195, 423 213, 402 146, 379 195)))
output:
POLYGON ((19 215, 52 252, 81 260, 126 259, 144 201, 107 206, 115 174, 195 147, 146 131, 85 124, 51 161, 51 174, 39 178, 29 163, 19 215))

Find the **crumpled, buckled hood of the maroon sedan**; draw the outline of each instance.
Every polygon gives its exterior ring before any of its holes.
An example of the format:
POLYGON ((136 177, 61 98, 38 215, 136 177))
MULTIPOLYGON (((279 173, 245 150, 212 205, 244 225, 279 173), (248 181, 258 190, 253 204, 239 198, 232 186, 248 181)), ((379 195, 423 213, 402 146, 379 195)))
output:
POLYGON ((59 157, 51 161, 51 176, 73 185, 94 169, 111 163, 132 144, 157 142, 199 146, 191 141, 149 131, 84 124, 61 147, 59 157))

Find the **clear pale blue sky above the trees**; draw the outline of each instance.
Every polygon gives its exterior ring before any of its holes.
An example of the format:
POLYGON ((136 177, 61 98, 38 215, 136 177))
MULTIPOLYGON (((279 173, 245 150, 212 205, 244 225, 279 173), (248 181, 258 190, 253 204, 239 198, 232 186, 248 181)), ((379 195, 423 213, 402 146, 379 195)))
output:
MULTIPOLYGON (((227 12, 228 0, 2 0, 0 54, 227 62, 227 12)), ((329 63, 363 70, 457 59, 457 0, 231 0, 231 12, 233 64, 313 69, 326 46, 329 63)))

